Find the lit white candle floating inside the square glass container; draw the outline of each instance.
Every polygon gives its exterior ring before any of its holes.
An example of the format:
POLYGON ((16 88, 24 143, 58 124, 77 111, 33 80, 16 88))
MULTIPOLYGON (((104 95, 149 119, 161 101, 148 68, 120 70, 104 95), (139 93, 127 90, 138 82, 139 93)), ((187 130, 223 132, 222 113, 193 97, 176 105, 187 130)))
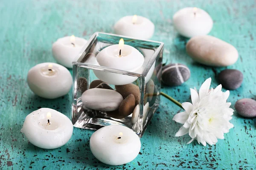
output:
MULTIPOLYGON (((119 45, 111 45, 97 54, 96 59, 100 66, 115 68, 123 71, 141 73, 144 57, 136 48, 124 45, 121 39, 119 45), (121 55, 120 55, 121 54, 121 55)), ((112 85, 126 85, 134 82, 138 77, 93 70, 96 77, 112 85)))

